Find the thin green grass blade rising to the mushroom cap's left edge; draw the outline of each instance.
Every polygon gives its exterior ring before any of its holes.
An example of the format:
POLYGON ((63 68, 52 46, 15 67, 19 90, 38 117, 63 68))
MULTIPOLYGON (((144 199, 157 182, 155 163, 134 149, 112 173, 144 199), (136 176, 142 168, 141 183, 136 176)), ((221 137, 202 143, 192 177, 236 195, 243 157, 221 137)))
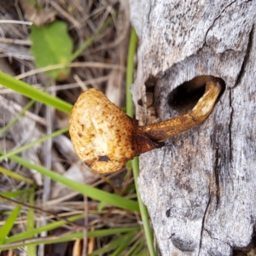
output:
MULTIPOLYGON (((6 154, 3 154, 0 156, 0 161, 9 158, 9 156, 14 155, 14 154, 19 154, 20 152, 26 150, 27 148, 31 148, 33 146, 35 146, 38 143, 44 143, 45 141, 47 141, 49 138, 53 138, 53 137, 57 137, 65 132, 68 131, 68 128, 63 128, 61 130, 58 131, 54 131, 53 133, 49 134, 49 135, 45 135, 44 137, 39 138, 38 140, 32 142, 32 143, 27 143, 26 145, 20 147, 20 148, 16 148, 12 151, 9 151, 6 154)), ((1 172, 1 171, 0 171, 1 172)))

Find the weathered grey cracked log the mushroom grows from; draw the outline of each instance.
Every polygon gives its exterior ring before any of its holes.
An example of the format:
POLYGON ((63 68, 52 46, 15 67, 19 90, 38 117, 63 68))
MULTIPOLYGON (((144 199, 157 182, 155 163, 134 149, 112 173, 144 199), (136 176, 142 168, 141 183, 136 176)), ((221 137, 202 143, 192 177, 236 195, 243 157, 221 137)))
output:
POLYGON ((209 118, 140 156, 139 189, 162 255, 231 255, 256 215, 255 1, 130 0, 140 39, 132 87, 140 124, 180 114, 168 104, 200 75, 224 79, 209 118), (146 91, 154 86, 154 108, 146 91))

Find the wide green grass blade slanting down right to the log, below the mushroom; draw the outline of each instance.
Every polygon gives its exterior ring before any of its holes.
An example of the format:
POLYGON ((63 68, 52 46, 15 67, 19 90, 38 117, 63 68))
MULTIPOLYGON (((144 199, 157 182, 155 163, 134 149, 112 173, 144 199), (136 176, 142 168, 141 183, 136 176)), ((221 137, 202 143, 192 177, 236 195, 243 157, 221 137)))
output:
MULTIPOLYGON (((0 151, 0 154, 3 154, 3 152, 0 151)), ((106 203, 108 203, 112 206, 120 207, 120 208, 134 211, 134 212, 139 211, 137 201, 131 201, 131 200, 128 200, 119 195, 110 194, 110 193, 102 191, 100 189, 92 188, 89 185, 75 182, 75 181, 70 180, 67 177, 64 177, 56 172, 52 172, 49 169, 44 168, 44 166, 38 166, 38 165, 32 164, 31 162, 24 160, 16 155, 10 156, 9 159, 14 160, 15 162, 19 163, 21 166, 25 166, 29 169, 34 169, 37 172, 39 172, 47 177, 50 177, 54 181, 62 183, 64 185, 66 185, 68 188, 78 191, 79 193, 81 193, 83 195, 87 195, 94 200, 105 201, 106 203)))

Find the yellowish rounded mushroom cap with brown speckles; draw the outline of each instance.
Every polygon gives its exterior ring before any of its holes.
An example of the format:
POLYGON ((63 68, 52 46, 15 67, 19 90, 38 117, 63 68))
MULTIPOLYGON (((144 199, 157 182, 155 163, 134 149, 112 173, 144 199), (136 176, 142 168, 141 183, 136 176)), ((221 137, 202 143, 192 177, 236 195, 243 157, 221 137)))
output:
POLYGON ((69 133, 75 152, 96 172, 115 172, 137 155, 137 123, 96 89, 83 92, 74 104, 69 133))

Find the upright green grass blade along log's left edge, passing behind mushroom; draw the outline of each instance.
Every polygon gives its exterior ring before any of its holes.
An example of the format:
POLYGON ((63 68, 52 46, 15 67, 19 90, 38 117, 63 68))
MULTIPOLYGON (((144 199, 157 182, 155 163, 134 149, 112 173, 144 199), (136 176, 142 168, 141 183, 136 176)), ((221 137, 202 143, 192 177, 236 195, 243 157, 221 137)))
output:
MULTIPOLYGON (((130 87, 133 81, 133 69, 134 69, 134 55, 137 48, 137 35, 134 29, 131 30, 131 38, 130 38, 130 45, 129 45, 129 52, 128 52, 128 60, 127 60, 127 70, 126 70, 126 113, 133 117, 133 107, 132 107, 132 98, 131 98, 131 91, 130 87)), ((148 251, 150 256, 156 255, 154 252, 154 243, 153 243, 153 233, 150 229, 150 224, 148 220, 148 211, 147 208, 144 206, 141 196, 138 192, 137 188, 137 177, 139 175, 139 168, 138 168, 138 159, 137 157, 131 160, 132 172, 134 177, 134 183, 137 190, 137 201, 139 204, 142 220, 143 220, 143 229, 146 236, 146 241, 148 244, 148 251)))

